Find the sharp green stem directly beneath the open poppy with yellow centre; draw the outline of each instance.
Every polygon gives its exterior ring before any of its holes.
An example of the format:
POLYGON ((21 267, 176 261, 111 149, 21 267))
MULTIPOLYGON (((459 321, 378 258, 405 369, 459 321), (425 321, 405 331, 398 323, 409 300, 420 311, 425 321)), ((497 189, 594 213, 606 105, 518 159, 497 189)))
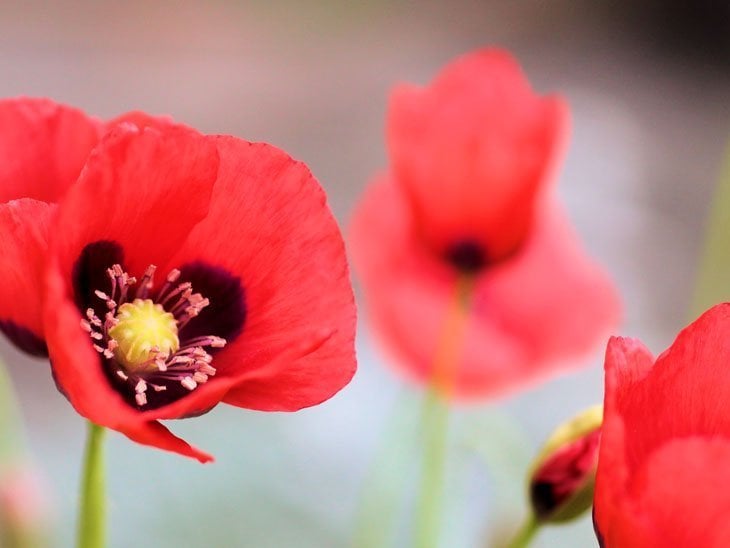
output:
POLYGON ((78 548, 103 548, 106 530, 104 427, 89 423, 81 484, 78 548))

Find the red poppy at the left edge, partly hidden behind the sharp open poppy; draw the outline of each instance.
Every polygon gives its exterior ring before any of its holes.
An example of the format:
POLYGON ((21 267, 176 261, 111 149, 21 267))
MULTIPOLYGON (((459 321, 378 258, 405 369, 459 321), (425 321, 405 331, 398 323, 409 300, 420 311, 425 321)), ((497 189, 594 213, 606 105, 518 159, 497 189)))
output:
POLYGON ((122 122, 170 124, 138 112, 105 123, 48 99, 0 100, 0 331, 30 354, 47 355, 37 280, 52 204, 101 136, 122 122))

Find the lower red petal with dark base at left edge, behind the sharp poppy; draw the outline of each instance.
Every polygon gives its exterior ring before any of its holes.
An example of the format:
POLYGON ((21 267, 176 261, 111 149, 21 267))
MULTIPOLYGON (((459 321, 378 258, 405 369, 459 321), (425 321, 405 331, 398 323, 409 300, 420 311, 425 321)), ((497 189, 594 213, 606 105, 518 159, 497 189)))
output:
POLYGON ((41 280, 54 209, 28 198, 0 204, 0 328, 33 354, 44 350, 41 280))

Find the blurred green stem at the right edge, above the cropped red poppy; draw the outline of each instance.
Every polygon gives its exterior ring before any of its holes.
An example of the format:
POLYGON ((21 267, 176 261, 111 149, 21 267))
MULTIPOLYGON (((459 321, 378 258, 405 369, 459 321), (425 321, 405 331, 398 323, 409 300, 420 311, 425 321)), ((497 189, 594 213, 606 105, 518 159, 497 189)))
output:
POLYGON ((690 305, 691 319, 710 306, 730 301, 730 146, 707 220, 705 243, 690 305))

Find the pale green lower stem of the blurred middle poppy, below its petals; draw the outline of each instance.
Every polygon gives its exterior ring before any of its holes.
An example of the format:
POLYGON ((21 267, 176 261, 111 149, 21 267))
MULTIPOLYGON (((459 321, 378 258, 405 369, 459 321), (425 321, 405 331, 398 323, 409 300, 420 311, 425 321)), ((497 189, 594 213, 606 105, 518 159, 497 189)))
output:
POLYGON ((418 548, 438 546, 448 422, 448 405, 441 394, 431 387, 426 394, 423 407, 423 476, 416 523, 416 546, 418 548))

